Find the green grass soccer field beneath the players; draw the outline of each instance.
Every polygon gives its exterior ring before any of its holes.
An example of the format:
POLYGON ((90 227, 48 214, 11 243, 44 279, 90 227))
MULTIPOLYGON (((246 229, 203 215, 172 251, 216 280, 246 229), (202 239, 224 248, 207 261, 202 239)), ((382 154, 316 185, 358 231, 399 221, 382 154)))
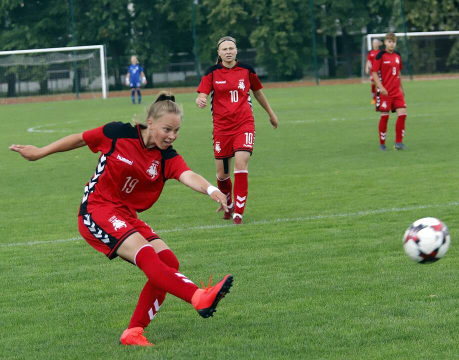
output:
MULTIPOLYGON (((98 155, 88 148, 27 162, 11 143, 45 145, 143 117, 130 98, 2 105, 1 359, 456 359, 459 354, 457 80, 405 81, 406 151, 379 151, 369 84, 266 89, 255 103, 244 224, 169 181, 140 214, 196 283, 234 275, 213 318, 168 295, 148 326, 152 348, 118 344, 145 281, 79 237, 77 209, 98 155), (32 128, 32 131, 27 131, 32 128), (403 232, 434 216, 451 248, 419 265, 403 232)), ((211 119, 178 94, 174 148, 215 183, 211 119)), ((152 101, 145 96, 143 102, 152 101)), ((146 106, 146 105, 145 105, 146 106)))

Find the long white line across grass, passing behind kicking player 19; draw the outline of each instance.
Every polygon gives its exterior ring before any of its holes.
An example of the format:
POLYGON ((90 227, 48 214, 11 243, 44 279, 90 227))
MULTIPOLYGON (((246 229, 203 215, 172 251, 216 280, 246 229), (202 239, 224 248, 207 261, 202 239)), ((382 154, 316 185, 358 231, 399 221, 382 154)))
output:
MULTIPOLYGON (((452 201, 452 202, 447 202, 444 204, 436 204, 436 205, 390 207, 390 208, 382 208, 382 209, 376 209, 376 210, 345 212, 345 213, 328 214, 328 215, 314 215, 314 216, 304 216, 304 217, 277 218, 277 219, 272 219, 272 220, 258 220, 258 221, 245 222, 244 224, 245 225, 261 225, 261 224, 271 224, 271 223, 279 223, 279 222, 304 222, 304 221, 329 219, 329 218, 337 218, 337 217, 355 217, 355 216, 365 216, 365 215, 377 215, 377 214, 384 214, 384 213, 389 213, 389 212, 402 212, 402 211, 419 210, 419 209, 424 209, 424 208, 446 207, 446 206, 457 206, 457 205, 459 205, 459 201, 452 201)), ((164 232, 205 230, 205 229, 224 228, 224 227, 231 227, 231 226, 234 226, 234 225, 230 223, 230 224, 201 225, 201 226, 192 226, 192 227, 174 227, 171 229, 158 230, 156 232, 160 235, 161 233, 164 233, 164 232)), ((0 247, 31 246, 31 245, 39 245, 39 244, 75 241, 75 240, 81 240, 81 239, 82 239, 81 236, 75 236, 75 237, 70 237, 66 239, 57 239, 57 240, 12 242, 12 243, 0 244, 0 247)))

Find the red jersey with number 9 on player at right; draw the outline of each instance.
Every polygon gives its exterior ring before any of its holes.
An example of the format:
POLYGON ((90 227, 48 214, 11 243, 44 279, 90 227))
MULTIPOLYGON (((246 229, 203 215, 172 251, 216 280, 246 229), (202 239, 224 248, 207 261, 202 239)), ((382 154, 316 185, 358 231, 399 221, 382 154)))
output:
POLYGON ((382 86, 387 90, 388 96, 398 96, 400 93, 400 70, 401 55, 397 51, 387 52, 379 51, 374 58, 373 68, 371 71, 376 71, 381 80, 382 86))

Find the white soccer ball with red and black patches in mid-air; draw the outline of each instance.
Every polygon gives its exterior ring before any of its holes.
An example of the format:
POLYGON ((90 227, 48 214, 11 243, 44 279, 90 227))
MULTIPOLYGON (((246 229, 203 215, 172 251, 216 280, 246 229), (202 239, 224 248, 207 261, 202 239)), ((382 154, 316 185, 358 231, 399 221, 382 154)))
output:
POLYGON ((448 228, 435 217, 423 217, 414 221, 403 236, 403 249, 408 257, 419 263, 439 260, 448 251, 448 228))

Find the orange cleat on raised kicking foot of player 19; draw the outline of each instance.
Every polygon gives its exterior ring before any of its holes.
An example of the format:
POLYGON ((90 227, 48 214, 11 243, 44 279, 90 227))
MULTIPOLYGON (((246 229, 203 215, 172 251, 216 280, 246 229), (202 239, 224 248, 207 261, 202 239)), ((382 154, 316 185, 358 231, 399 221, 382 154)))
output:
POLYGON ((233 279, 232 275, 226 275, 213 286, 210 286, 211 281, 212 277, 210 276, 207 287, 204 287, 204 284, 202 284, 203 288, 197 289, 191 298, 191 304, 197 310, 199 315, 204 318, 213 316, 213 313, 216 311, 215 307, 218 304, 218 301, 220 301, 224 295, 229 292, 233 279))

